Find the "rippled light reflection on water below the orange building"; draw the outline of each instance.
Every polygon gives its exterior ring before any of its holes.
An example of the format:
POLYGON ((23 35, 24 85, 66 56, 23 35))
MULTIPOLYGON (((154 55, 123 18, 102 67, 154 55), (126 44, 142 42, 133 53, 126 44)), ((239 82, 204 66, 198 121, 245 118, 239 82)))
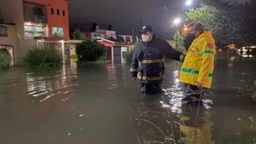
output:
POLYGON ((26 73, 28 96, 40 97, 39 101, 43 102, 56 94, 69 94, 72 92, 72 86, 77 85, 72 83, 74 79, 77 79, 76 69, 67 69, 66 65, 56 71, 45 69, 36 73, 26 73))

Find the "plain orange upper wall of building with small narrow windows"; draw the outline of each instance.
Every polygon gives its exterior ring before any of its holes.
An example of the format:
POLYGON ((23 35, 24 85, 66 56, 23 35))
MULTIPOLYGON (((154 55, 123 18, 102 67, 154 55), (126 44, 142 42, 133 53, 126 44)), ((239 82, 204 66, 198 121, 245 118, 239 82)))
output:
POLYGON ((68 23, 68 0, 26 0, 32 3, 47 5, 47 24, 49 27, 49 37, 53 37, 52 27, 63 27, 64 37, 70 38, 69 23, 68 23), (54 14, 51 14, 51 9, 54 9, 54 14), (60 15, 57 15, 57 9, 60 10, 60 15), (65 16, 62 15, 62 10, 65 10, 65 16))

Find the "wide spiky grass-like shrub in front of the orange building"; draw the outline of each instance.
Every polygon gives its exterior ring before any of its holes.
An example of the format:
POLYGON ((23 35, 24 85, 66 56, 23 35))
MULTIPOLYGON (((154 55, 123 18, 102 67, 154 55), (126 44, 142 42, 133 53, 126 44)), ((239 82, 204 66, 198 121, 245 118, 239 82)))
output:
POLYGON ((62 63, 62 54, 49 46, 35 47, 28 50, 24 63, 32 67, 55 67, 62 63))

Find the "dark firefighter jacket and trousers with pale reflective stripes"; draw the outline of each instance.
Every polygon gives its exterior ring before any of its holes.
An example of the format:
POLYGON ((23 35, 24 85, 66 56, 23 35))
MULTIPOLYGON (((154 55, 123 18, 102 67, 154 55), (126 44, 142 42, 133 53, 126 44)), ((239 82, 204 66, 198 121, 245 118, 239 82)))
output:
POLYGON ((131 77, 141 82, 142 94, 161 93, 164 78, 163 56, 173 60, 184 61, 184 54, 173 49, 167 41, 153 36, 152 41, 140 41, 135 46, 131 64, 131 77))

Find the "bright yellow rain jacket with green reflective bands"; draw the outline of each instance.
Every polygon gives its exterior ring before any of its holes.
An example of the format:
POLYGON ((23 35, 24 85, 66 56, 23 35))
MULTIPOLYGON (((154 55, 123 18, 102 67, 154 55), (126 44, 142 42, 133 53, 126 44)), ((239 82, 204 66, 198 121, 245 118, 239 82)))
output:
POLYGON ((211 31, 205 31, 194 39, 182 64, 180 81, 193 85, 202 82, 204 88, 211 88, 215 52, 211 31))

